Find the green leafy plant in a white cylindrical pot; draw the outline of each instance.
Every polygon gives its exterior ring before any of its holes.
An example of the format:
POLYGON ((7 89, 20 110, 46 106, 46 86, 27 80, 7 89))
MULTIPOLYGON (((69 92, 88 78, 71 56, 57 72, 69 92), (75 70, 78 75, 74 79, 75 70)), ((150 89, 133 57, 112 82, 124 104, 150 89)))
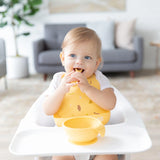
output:
POLYGON ((28 58, 19 54, 17 38, 30 35, 30 32, 20 33, 20 26, 33 26, 27 18, 39 11, 41 3, 42 0, 0 0, 0 27, 11 26, 16 53, 15 56, 7 58, 8 78, 28 76, 28 58))

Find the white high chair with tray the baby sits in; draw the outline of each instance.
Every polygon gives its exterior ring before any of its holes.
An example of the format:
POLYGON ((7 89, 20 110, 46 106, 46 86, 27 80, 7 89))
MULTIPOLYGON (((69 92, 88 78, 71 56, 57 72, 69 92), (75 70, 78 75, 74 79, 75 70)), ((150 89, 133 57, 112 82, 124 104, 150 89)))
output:
POLYGON ((76 155, 76 160, 88 160, 90 155, 100 154, 122 154, 121 160, 129 160, 131 153, 149 149, 152 142, 141 118, 116 88, 114 91, 115 109, 105 126, 105 137, 98 137, 96 143, 79 146, 68 142, 63 128, 55 126, 53 116, 43 113, 43 93, 21 120, 10 143, 10 152, 35 156, 35 160, 50 160, 52 155, 76 155))

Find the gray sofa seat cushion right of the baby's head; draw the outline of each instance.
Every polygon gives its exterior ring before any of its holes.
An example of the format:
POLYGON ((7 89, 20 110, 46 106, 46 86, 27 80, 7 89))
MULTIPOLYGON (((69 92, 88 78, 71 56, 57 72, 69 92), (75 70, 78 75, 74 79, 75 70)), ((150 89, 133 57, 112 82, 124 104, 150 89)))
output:
POLYGON ((104 63, 122 63, 136 61, 136 54, 128 49, 103 50, 102 57, 104 63))

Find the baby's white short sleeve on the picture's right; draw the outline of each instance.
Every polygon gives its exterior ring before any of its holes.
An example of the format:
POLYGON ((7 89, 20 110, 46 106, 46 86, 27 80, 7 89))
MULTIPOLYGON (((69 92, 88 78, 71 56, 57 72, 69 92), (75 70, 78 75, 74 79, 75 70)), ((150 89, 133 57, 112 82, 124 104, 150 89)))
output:
POLYGON ((95 72, 96 75, 96 79, 99 81, 100 83, 100 87, 101 90, 105 89, 105 88, 112 88, 109 79, 100 71, 96 71, 95 72))

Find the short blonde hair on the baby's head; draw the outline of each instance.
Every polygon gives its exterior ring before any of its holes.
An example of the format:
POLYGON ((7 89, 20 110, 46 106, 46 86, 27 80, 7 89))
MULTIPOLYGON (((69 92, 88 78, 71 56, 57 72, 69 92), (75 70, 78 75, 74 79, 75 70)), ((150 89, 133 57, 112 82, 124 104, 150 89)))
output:
POLYGON ((73 45, 79 42, 92 41, 94 45, 97 47, 97 56, 98 58, 102 58, 101 56, 101 40, 96 34, 95 31, 86 27, 78 27, 71 29, 66 36, 64 37, 62 43, 62 51, 65 47, 69 45, 73 45))

